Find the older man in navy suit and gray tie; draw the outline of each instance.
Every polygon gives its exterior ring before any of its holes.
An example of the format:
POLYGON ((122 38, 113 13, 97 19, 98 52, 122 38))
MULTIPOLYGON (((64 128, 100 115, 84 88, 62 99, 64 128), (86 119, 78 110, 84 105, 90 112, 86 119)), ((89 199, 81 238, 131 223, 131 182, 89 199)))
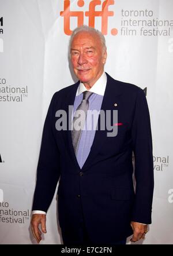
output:
MULTIPOLYGON (((46 233, 46 212, 59 177, 58 217, 64 244, 125 244, 132 234, 131 241, 136 242, 151 224, 153 157, 146 97, 139 87, 106 74, 106 58, 99 31, 87 26, 73 31, 70 60, 79 81, 54 94, 44 123, 31 220, 38 243, 46 233), (118 133, 108 136, 107 127, 83 129, 75 152, 70 126, 58 129, 57 111, 74 120, 69 106, 74 113, 87 91, 89 110, 118 112, 115 123, 110 118, 118 133)), ((86 115, 85 125, 90 122, 86 115)))

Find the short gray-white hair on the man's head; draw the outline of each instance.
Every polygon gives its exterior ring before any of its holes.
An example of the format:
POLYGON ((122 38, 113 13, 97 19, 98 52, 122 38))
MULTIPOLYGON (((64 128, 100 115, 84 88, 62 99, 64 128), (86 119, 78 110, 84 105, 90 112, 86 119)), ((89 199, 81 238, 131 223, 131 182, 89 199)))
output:
POLYGON ((73 33, 70 37, 70 42, 69 42, 69 53, 70 53, 70 49, 71 49, 71 45, 72 45, 72 41, 74 39, 74 36, 76 34, 78 34, 79 32, 89 32, 91 34, 95 33, 100 38, 100 42, 102 44, 103 51, 105 51, 107 49, 106 48, 106 40, 104 38, 104 35, 101 34, 101 32, 99 30, 96 30, 95 28, 88 27, 87 25, 82 25, 81 27, 77 27, 77 28, 75 28, 75 30, 73 30, 73 33))

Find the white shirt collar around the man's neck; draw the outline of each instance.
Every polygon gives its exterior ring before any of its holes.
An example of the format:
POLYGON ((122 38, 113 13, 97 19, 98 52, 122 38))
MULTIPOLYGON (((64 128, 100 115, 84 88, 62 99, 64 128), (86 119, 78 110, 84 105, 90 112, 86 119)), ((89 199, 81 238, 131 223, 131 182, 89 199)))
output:
MULTIPOLYGON (((106 83, 107 83, 107 75, 105 72, 100 76, 100 78, 96 81, 96 83, 91 87, 89 92, 99 94, 101 96, 104 96, 104 91, 106 89, 106 83)), ((80 95, 81 93, 85 92, 87 89, 84 85, 84 83, 80 82, 76 96, 80 95)))

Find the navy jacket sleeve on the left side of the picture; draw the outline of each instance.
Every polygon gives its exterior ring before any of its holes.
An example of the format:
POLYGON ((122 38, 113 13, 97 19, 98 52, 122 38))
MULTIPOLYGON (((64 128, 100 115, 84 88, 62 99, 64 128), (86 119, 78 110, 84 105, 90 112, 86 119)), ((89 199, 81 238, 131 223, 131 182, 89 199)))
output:
POLYGON ((53 133, 56 94, 52 97, 44 123, 32 210, 47 211, 60 175, 59 150, 53 133))

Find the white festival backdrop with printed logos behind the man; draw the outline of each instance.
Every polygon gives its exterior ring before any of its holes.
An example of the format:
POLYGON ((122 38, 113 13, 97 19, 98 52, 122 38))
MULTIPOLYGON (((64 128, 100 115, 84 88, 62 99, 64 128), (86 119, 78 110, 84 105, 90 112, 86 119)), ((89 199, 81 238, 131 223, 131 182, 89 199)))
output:
MULTIPOLYGON (((172 0, 0 0, 0 244, 34 243, 29 222, 44 118, 52 94, 74 82, 69 35, 82 24, 106 36, 105 70, 145 90, 155 193, 143 244, 172 244, 172 0)), ((43 244, 61 243, 56 204, 43 244)))

